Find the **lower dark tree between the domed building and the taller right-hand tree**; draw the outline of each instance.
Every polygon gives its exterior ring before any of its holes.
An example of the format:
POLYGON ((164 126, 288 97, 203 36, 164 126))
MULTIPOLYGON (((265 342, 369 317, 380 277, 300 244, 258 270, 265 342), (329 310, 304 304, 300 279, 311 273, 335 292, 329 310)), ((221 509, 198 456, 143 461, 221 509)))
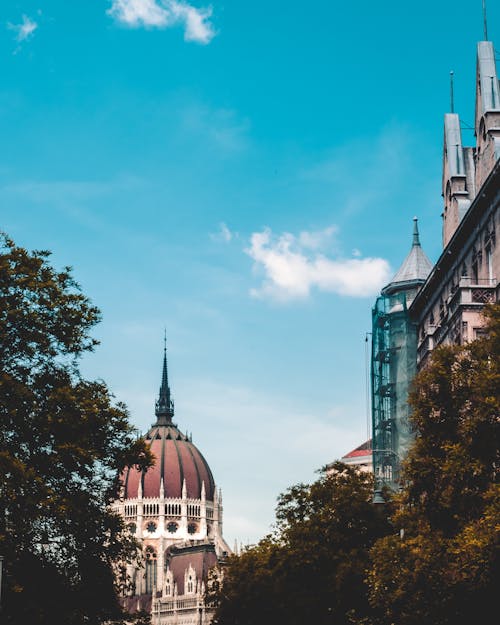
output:
POLYGON ((219 625, 343 625, 366 614, 369 548, 391 528, 373 480, 336 463, 278 499, 276 531, 230 558, 215 592, 219 625))

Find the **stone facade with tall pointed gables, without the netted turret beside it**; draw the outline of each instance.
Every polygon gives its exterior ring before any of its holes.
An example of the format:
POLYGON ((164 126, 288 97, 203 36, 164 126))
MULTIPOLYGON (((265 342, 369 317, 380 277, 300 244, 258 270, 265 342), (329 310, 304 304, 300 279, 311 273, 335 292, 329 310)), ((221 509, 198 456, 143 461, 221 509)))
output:
POLYGON ((441 344, 481 336, 485 304, 500 301, 500 90, 490 41, 477 48, 476 145, 463 147, 460 118, 445 115, 443 252, 410 307, 418 368, 441 344))

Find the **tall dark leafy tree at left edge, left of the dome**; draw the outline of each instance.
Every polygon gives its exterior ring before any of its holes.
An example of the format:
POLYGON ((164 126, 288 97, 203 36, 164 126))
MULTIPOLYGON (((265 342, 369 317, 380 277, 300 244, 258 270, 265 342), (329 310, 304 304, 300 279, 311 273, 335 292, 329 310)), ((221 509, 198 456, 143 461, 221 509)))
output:
POLYGON ((125 466, 148 467, 123 404, 78 362, 99 310, 70 268, 0 236, 2 623, 121 618, 122 563, 136 544, 109 504, 125 466))

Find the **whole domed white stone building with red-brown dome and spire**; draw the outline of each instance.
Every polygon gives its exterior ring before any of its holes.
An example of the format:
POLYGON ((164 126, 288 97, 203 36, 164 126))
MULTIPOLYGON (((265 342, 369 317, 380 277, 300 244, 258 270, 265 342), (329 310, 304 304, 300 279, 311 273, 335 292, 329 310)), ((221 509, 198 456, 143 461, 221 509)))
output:
POLYGON ((166 349, 155 414, 145 436, 155 464, 145 472, 128 469, 115 503, 142 546, 142 560, 128 566, 133 590, 123 605, 150 612, 153 625, 208 625, 207 580, 230 553, 222 535, 222 494, 191 436, 173 422, 166 349))

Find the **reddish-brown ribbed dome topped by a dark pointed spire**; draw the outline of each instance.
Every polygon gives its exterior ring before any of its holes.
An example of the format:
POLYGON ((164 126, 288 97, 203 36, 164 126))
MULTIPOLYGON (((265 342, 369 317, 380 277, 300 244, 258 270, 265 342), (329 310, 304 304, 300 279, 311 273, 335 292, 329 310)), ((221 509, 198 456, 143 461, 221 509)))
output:
POLYGON ((155 464, 146 472, 134 467, 125 471, 123 475, 125 499, 137 498, 139 485, 142 497, 160 497, 163 482, 163 493, 166 498, 182 497, 185 484, 186 497, 200 499, 204 484, 206 499, 213 501, 215 484, 207 461, 191 440, 172 422, 174 402, 170 398, 168 386, 166 349, 160 396, 156 402, 155 412, 156 423, 145 436, 155 456, 155 464))

